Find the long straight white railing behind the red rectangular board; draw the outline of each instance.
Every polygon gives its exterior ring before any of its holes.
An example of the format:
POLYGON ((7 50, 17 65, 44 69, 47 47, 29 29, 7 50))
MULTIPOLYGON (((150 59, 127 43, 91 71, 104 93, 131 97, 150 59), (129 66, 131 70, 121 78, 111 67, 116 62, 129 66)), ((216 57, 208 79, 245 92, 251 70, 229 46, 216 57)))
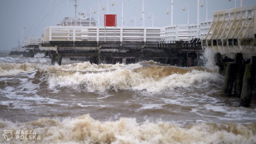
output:
POLYGON ((49 41, 138 41, 159 42, 162 27, 49 26, 42 42, 49 41))

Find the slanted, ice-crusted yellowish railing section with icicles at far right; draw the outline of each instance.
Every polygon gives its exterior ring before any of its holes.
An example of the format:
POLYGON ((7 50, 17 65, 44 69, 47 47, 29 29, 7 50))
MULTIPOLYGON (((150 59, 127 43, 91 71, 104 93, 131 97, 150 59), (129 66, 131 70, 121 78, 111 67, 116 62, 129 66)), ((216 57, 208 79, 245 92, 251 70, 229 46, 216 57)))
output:
POLYGON ((215 11, 202 45, 221 54, 255 53, 255 16, 256 5, 215 11))

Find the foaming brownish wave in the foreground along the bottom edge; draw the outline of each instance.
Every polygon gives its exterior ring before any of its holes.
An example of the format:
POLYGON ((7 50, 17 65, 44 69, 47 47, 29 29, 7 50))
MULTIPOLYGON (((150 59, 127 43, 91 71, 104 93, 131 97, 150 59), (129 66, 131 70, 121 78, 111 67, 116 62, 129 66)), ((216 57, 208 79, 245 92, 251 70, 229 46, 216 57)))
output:
MULTIPOLYGON (((11 140, 19 143, 85 143, 85 144, 255 144, 256 123, 187 126, 158 122, 137 123, 135 118, 100 122, 86 114, 59 121, 50 118, 15 124, 0 121, 0 131, 35 130, 41 140, 11 140)), ((14 133, 15 137, 15 133, 14 133)), ((0 137, 0 142, 6 142, 0 137)))

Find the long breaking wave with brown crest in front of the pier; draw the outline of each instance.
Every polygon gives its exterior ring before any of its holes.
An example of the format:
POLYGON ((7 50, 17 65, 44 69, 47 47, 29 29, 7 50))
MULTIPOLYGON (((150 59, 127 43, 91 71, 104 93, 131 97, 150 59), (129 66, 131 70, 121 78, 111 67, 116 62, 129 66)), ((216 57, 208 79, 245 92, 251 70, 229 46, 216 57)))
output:
POLYGON ((146 90, 208 86, 221 76, 202 67, 147 66, 138 64, 90 64, 89 62, 51 67, 49 88, 70 87, 88 92, 146 90))

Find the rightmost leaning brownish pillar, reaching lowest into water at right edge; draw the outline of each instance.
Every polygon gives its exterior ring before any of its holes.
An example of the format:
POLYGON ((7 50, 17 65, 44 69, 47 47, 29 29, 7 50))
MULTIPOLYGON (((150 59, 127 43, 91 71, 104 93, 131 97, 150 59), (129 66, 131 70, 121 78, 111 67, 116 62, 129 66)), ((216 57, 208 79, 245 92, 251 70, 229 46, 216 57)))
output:
POLYGON ((253 78, 252 78, 252 65, 246 64, 244 72, 244 82, 240 97, 239 106, 250 107, 252 98, 253 78))

